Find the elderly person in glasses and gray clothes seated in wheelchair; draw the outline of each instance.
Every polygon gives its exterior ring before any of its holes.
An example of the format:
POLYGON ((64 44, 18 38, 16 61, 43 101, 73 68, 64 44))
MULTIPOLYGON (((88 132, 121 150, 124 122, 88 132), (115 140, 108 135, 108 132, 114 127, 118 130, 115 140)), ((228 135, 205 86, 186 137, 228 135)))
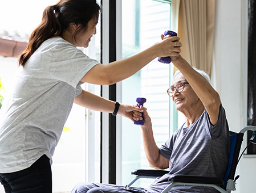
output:
MULTIPOLYGON (((172 62, 178 71, 167 93, 176 109, 185 115, 185 123, 158 148, 147 108, 140 107, 144 110, 143 118, 140 112, 133 114, 134 120, 144 120, 141 130, 149 165, 156 169, 169 167, 169 173, 146 188, 82 183, 72 192, 161 192, 171 183, 168 177, 172 174, 224 178, 229 159, 229 127, 220 96, 210 85, 205 72, 192 68, 181 56, 172 58, 172 62)), ((175 186, 170 192, 218 191, 211 187, 175 186)))

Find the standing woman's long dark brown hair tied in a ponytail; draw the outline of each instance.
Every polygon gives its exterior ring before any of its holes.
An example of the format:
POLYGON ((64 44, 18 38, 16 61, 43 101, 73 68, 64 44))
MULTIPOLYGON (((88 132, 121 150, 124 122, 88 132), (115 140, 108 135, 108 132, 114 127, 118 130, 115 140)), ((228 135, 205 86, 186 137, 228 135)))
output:
POLYGON ((26 50, 19 56, 19 66, 25 66, 30 56, 45 40, 62 36, 70 23, 80 24, 74 33, 76 39, 79 32, 87 30, 91 19, 99 17, 100 11, 96 0, 60 0, 56 5, 46 7, 42 22, 31 33, 26 50))

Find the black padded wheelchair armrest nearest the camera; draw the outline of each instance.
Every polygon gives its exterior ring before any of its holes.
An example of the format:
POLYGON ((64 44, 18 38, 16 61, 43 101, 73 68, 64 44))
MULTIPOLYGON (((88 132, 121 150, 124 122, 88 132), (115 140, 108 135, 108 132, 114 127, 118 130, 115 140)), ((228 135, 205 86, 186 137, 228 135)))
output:
POLYGON ((223 179, 216 177, 203 177, 196 175, 181 175, 174 174, 168 178, 171 182, 182 182, 182 183, 200 183, 200 184, 224 184, 223 179))

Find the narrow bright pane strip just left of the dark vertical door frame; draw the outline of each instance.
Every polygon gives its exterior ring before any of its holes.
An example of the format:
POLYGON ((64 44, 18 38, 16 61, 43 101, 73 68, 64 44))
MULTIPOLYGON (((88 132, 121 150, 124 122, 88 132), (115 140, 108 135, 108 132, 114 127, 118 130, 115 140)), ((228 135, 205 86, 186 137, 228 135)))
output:
MULTIPOLYGON (((100 1, 97 1, 100 4, 100 1)), ((100 62, 101 17, 96 26, 96 35, 84 53, 100 62)), ((84 90, 100 96, 100 85, 84 83, 84 90)), ((100 112, 86 109, 86 181, 100 182, 100 112)))

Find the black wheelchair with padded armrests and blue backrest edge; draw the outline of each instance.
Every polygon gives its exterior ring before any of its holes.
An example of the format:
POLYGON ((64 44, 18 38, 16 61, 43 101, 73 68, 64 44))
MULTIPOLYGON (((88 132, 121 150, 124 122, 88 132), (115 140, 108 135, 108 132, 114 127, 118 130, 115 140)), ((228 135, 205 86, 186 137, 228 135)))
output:
MULTIPOLYGON (((213 187, 221 193, 230 193, 231 191, 235 191, 235 184, 239 175, 235 177, 235 170, 237 169, 237 165, 239 160, 241 159, 243 153, 253 142, 256 135, 256 127, 255 126, 247 126, 243 128, 239 133, 231 132, 230 131, 230 155, 229 155, 229 163, 227 166, 227 171, 224 179, 215 178, 215 177, 203 177, 203 176, 194 176, 194 175, 182 175, 182 174, 175 174, 170 175, 168 181, 170 184, 161 192, 166 193, 174 186, 206 186, 206 187, 213 187), (253 131, 253 135, 249 140, 246 148, 239 156, 241 145, 243 141, 243 136, 245 132, 253 131)), ((161 177, 162 175, 169 173, 167 170, 133 170, 132 174, 136 175, 135 178, 132 179, 131 182, 127 184, 127 187, 131 187, 134 182, 136 182, 140 178, 157 178, 161 177)))

